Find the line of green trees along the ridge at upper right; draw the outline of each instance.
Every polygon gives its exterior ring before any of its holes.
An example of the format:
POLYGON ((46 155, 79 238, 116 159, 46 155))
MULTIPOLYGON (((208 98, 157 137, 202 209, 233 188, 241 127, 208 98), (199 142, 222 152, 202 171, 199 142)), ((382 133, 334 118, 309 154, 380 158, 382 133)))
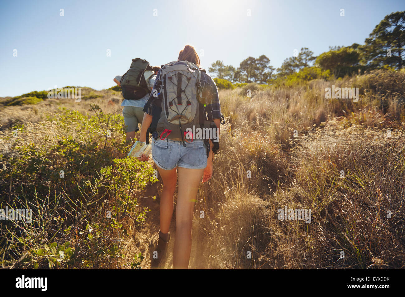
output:
POLYGON ((339 78, 378 68, 400 70, 404 65, 405 11, 398 11, 384 17, 363 45, 329 46, 329 51, 317 57, 309 48, 303 47, 299 53, 295 50, 294 55, 285 59, 277 70, 270 65, 268 57, 261 55, 257 59, 246 58, 237 68, 218 60, 212 63, 208 71, 216 78, 232 83, 266 84, 301 71, 317 74, 329 71, 339 78))

